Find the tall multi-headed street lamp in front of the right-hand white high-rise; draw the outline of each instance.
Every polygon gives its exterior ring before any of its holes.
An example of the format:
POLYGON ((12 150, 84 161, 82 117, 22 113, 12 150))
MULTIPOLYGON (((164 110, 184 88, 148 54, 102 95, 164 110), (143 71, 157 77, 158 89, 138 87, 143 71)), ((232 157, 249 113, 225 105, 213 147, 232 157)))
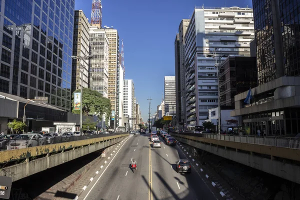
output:
POLYGON ((219 69, 221 67, 221 58, 228 57, 228 54, 217 53, 214 48, 213 53, 206 54, 207 57, 212 57, 214 59, 214 67, 216 67, 217 71, 217 108, 218 108, 218 134, 221 133, 221 106, 220 106, 220 86, 219 86, 219 69))

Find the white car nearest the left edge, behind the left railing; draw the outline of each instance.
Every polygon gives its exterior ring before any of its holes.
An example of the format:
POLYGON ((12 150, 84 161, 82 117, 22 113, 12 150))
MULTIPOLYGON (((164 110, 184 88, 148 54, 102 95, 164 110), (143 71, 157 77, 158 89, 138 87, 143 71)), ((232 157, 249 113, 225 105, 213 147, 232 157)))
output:
POLYGON ((45 145, 47 138, 42 137, 41 134, 19 134, 13 139, 9 140, 7 150, 27 148, 31 146, 45 145))

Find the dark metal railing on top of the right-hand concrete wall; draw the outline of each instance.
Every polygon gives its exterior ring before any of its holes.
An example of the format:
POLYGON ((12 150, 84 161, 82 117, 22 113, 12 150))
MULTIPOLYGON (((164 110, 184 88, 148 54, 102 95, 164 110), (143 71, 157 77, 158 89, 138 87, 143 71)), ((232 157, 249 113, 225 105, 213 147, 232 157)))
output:
MULTIPOLYGON (((173 133, 177 135, 177 133, 173 133)), ((276 136, 255 136, 255 135, 231 135, 231 134, 212 134, 212 133, 182 133, 185 135, 199 136, 211 139, 220 139, 226 141, 244 142, 244 143, 254 143, 260 145, 269 145, 285 148, 296 148, 300 149, 300 139, 293 137, 276 137, 276 136)))

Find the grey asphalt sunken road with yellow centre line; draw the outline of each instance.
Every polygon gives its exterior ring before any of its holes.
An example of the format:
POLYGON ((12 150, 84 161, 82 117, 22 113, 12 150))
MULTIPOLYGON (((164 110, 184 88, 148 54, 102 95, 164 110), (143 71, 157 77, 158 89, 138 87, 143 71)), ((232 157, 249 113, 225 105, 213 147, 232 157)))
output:
POLYGON ((160 138, 161 148, 153 148, 148 137, 140 134, 126 140, 78 199, 216 199, 194 168, 186 174, 174 170, 175 161, 186 158, 177 146, 168 146, 160 138), (137 170, 132 171, 133 158, 137 170))

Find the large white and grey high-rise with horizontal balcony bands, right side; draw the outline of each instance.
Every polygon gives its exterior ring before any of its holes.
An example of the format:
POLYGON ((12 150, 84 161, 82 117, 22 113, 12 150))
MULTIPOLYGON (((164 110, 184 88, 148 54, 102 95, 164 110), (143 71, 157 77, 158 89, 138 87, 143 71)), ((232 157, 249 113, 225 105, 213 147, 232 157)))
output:
POLYGON ((188 127, 202 125, 207 110, 218 104, 217 71, 208 53, 249 56, 253 37, 250 8, 194 8, 184 36, 188 127))

